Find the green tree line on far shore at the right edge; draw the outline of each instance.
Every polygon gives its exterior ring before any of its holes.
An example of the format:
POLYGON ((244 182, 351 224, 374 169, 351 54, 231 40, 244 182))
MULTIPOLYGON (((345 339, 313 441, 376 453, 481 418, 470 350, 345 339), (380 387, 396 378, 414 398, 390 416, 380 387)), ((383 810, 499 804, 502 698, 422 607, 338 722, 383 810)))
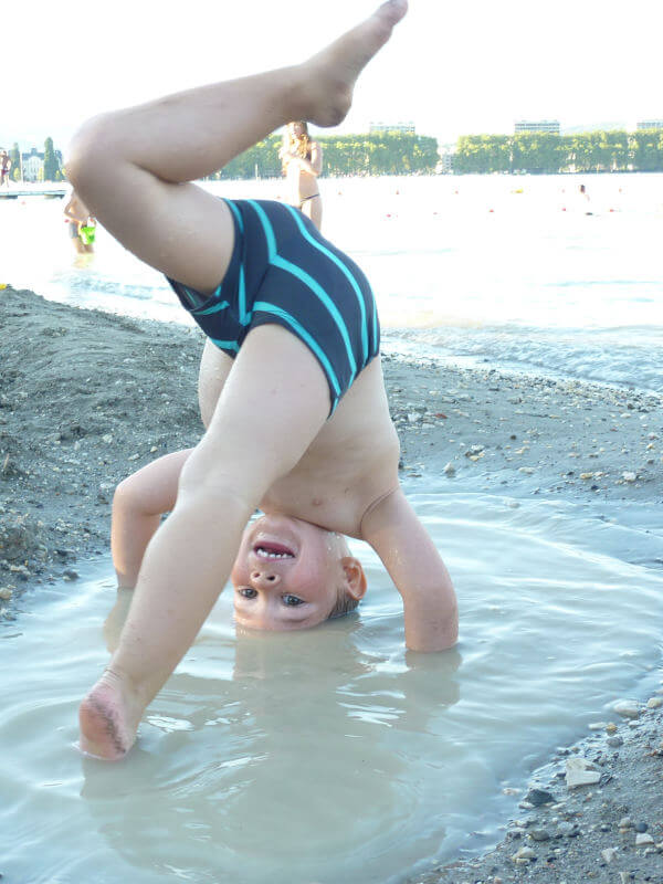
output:
POLYGON ((463 135, 454 172, 663 171, 663 130, 463 135))

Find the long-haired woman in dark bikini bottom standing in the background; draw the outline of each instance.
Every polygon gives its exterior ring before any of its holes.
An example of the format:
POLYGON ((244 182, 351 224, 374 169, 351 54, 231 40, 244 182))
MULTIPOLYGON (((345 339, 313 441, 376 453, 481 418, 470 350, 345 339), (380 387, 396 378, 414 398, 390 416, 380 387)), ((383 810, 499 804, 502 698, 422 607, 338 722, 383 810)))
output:
POLYGON ((287 124, 278 156, 290 188, 291 206, 296 206, 322 230, 323 198, 317 179, 323 171, 323 148, 311 138, 303 119, 287 124))

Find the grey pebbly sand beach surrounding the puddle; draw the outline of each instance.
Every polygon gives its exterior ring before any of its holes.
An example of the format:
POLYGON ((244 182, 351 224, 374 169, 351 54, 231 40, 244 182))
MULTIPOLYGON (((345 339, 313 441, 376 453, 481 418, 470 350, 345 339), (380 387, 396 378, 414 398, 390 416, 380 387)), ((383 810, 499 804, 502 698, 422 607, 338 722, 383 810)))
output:
MULTIPOLYGON (((0 292, 0 612, 11 621, 40 585, 75 580, 85 561, 108 555, 122 478, 198 442, 203 338, 11 287, 0 292)), ((389 355, 383 366, 407 487, 504 494, 516 505, 532 495, 570 499, 597 518, 663 535, 659 397, 389 355)), ((663 544, 646 564, 663 566, 663 544)), ((514 800, 530 800, 517 823, 505 820, 495 851, 412 884, 663 882, 659 694, 560 747, 523 783, 514 800), (569 789, 566 765, 576 757, 598 776, 569 789), (533 785, 549 800, 528 792, 533 785)), ((472 833, 466 849, 475 850, 472 833)))

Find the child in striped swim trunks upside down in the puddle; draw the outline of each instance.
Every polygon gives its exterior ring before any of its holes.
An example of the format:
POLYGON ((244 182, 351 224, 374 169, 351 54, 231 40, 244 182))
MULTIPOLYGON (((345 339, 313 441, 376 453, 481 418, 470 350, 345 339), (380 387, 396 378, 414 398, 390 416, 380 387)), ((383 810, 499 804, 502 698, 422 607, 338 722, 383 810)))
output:
MULTIPOLYGON (((456 642, 451 579, 400 487, 364 273, 297 209, 218 199, 191 183, 288 120, 339 124, 406 11, 407 0, 388 0, 304 64, 103 114, 73 139, 76 192, 167 276, 208 336, 214 402, 173 509, 147 544, 118 646, 81 704, 90 755, 115 760, 130 749, 238 554, 248 625, 292 631, 328 617, 315 592, 334 578, 332 533, 366 540, 385 564, 408 648, 456 642), (278 524, 245 535, 256 508, 278 524)), ((158 410, 149 392, 146 408, 158 410)))

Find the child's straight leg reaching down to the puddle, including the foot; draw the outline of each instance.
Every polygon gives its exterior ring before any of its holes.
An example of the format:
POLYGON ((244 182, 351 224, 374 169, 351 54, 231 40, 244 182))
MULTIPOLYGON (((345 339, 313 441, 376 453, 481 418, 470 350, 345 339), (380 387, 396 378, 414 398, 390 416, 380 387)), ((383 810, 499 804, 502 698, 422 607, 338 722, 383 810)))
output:
POLYGON ((290 332, 248 336, 214 417, 150 541, 108 671, 81 705, 81 746, 115 759, 193 642, 223 588, 242 532, 266 490, 299 461, 329 410, 325 375, 290 332))

